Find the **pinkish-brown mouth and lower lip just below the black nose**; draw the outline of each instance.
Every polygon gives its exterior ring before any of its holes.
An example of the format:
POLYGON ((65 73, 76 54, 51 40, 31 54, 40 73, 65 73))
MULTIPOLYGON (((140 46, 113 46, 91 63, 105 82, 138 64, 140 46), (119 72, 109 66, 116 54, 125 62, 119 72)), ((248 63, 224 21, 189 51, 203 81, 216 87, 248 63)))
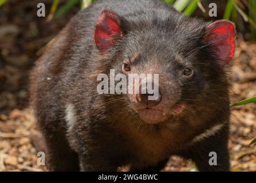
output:
POLYGON ((175 104, 168 112, 148 107, 137 109, 136 112, 139 114, 140 118, 148 124, 158 124, 159 122, 167 120, 169 114, 178 115, 182 113, 183 109, 183 104, 175 104))

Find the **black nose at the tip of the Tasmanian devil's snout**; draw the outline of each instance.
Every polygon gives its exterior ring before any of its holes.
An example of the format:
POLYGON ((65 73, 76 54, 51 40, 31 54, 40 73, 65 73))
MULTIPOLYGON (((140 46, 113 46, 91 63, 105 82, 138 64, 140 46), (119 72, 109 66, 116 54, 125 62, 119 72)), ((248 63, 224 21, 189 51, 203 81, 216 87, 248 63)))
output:
MULTIPOLYGON (((153 83, 151 86, 153 86, 153 83)), ((141 86, 140 86, 140 89, 141 89, 141 86)), ((143 89, 141 89, 141 90, 143 90, 143 89)), ((150 107, 150 106, 155 106, 161 102, 162 96, 161 96, 160 91, 158 92, 158 96, 156 96, 155 100, 148 100, 148 97, 154 96, 154 93, 149 94, 148 90, 146 89, 145 91, 147 91, 147 92, 145 94, 142 94, 141 90, 140 90, 139 94, 136 94, 136 100, 138 102, 140 102, 141 104, 150 107)))

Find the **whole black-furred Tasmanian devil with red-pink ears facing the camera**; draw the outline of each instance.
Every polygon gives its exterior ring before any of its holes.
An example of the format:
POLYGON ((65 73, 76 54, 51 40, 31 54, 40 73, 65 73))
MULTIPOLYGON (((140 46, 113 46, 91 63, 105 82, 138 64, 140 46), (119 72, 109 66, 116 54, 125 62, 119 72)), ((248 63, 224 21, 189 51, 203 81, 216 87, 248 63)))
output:
POLYGON ((178 155, 201 171, 228 171, 225 65, 234 51, 233 23, 188 18, 161 1, 104 0, 80 11, 31 74, 49 169, 156 171, 178 155), (97 76, 111 69, 159 74, 158 97, 100 94, 97 76))

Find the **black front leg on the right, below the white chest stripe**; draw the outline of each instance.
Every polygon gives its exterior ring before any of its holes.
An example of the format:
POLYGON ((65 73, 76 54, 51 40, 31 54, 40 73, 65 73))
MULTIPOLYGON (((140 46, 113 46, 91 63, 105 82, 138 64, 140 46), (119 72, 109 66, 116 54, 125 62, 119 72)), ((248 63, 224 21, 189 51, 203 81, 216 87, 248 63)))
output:
POLYGON ((230 169, 229 162, 229 127, 228 124, 222 126, 218 132, 211 134, 210 131, 203 138, 196 138, 198 141, 192 144, 191 148, 183 154, 185 158, 191 158, 198 169, 206 171, 224 171, 230 169))

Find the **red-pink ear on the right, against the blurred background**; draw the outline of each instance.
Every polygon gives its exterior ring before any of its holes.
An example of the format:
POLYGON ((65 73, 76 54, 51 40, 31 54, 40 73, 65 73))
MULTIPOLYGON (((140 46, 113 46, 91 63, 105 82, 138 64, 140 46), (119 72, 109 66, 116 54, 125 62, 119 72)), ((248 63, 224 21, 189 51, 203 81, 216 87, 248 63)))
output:
POLYGON ((204 42, 214 51, 221 66, 229 63, 235 54, 235 26, 230 21, 215 21, 207 26, 204 42))

